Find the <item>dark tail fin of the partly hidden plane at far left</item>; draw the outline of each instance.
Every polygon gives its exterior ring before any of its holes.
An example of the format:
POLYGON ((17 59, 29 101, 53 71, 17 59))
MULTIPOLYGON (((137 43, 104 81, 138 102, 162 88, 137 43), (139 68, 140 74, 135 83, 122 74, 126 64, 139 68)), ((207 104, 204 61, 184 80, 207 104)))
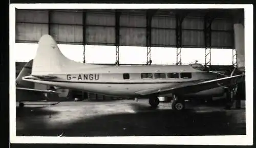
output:
POLYGON ((27 87, 27 88, 34 88, 34 83, 29 81, 24 81, 22 78, 24 76, 28 76, 31 74, 33 60, 30 60, 23 69, 19 72, 16 78, 16 84, 19 86, 27 87))

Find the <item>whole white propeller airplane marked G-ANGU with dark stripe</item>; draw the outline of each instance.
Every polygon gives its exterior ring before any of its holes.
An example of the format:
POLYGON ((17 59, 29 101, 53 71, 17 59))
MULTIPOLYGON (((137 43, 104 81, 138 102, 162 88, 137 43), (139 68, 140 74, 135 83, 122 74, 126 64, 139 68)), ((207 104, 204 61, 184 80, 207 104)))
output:
POLYGON ((50 35, 38 41, 32 73, 23 80, 83 90, 113 97, 149 98, 152 107, 159 96, 172 96, 172 109, 184 110, 186 98, 225 95, 231 107, 237 84, 245 75, 211 72, 200 64, 190 65, 96 65, 70 60, 50 35))

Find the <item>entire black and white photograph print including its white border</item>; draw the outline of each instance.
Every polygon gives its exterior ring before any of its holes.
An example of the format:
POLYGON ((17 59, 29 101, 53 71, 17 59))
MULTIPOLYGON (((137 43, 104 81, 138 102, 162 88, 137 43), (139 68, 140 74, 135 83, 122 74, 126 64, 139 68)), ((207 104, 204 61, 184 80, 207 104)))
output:
POLYGON ((10 142, 252 144, 252 19, 251 5, 11 4, 10 142))

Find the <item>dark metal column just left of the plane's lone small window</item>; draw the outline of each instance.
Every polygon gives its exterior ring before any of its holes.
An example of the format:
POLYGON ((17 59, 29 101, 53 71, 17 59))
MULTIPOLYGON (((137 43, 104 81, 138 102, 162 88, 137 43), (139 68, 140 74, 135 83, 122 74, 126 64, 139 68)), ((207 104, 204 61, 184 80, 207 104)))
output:
POLYGON ((115 20, 116 20, 116 25, 115 25, 115 46, 116 46, 116 65, 119 65, 119 30, 120 30, 120 10, 115 11, 115 20))

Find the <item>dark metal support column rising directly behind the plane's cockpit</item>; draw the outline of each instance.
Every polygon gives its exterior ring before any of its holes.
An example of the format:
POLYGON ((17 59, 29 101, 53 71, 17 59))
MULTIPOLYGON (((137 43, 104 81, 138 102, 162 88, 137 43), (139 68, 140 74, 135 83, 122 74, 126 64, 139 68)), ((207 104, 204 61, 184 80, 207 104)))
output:
POLYGON ((214 18, 205 15, 204 17, 204 42, 205 42, 205 66, 211 65, 211 22, 214 18))

